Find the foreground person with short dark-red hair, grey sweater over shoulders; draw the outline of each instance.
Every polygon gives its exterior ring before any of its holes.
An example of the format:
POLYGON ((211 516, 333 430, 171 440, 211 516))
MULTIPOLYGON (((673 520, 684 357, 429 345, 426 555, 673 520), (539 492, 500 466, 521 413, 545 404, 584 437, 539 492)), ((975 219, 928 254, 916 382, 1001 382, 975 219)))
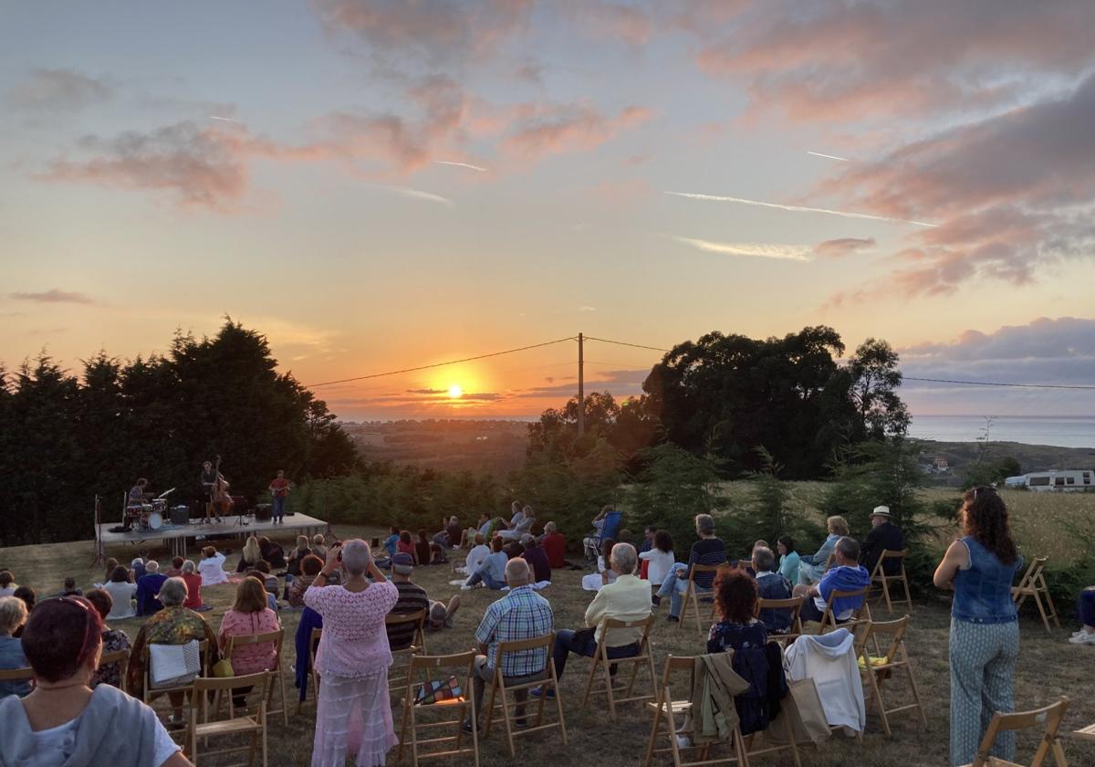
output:
POLYGON ((151 708, 112 685, 90 684, 102 654, 99 611, 80 597, 44 602, 23 638, 34 668, 26 698, 0 701, 0 764, 45 767, 186 767, 151 708))

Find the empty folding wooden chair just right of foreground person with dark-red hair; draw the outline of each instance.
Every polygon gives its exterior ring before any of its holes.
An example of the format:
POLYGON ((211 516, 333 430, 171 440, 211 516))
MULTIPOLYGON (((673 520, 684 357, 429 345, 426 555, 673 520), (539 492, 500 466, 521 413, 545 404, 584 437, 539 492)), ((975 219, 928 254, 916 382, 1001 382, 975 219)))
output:
POLYGON ((247 674, 245 676, 226 676, 220 678, 198 677, 195 679, 193 687, 194 695, 191 696, 189 724, 187 725, 186 732, 186 756, 189 757, 191 762, 195 765, 198 764, 199 737, 201 739, 203 744, 208 744, 210 737, 232 737, 234 735, 251 733, 250 745, 211 751, 203 754, 203 756, 221 756, 224 754, 234 754, 245 751, 247 752, 247 767, 251 767, 255 760, 255 749, 258 746, 258 740, 262 739, 263 767, 266 767, 266 694, 269 685, 270 672, 260 672, 257 674, 247 674), (204 721, 208 718, 206 707, 208 705, 209 692, 212 692, 214 696, 217 697, 219 697, 221 692, 226 692, 229 698, 231 698, 233 688, 251 686, 258 690, 258 706, 254 716, 246 716, 242 712, 242 709, 235 709, 231 706, 231 703, 229 703, 228 719, 219 719, 212 722, 204 721), (198 709, 203 709, 203 721, 200 722, 198 721, 198 709), (237 713, 238 711, 240 711, 239 714, 237 713))

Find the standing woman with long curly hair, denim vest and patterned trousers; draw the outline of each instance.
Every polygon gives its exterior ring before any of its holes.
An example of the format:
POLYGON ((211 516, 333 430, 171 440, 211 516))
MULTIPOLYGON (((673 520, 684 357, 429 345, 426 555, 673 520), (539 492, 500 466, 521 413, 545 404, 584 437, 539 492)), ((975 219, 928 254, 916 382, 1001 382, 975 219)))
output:
MULTIPOLYGON (((953 588, 950 608, 950 764, 973 760, 993 711, 1008 712, 1019 654, 1012 581, 1023 565, 1007 529, 1007 507, 992 488, 966 493, 965 535, 935 570, 940 588, 953 588)), ((1015 758, 1015 733, 1000 733, 992 755, 1015 758)))

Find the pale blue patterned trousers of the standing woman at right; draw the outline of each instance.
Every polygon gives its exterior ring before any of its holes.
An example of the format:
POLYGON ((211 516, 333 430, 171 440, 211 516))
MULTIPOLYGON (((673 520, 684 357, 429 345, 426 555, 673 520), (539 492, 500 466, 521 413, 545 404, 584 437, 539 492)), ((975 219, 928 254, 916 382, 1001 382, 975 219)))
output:
MULTIPOLYGON (((1019 654, 1018 621, 973 623, 950 619, 950 764, 973 760, 993 711, 1011 712, 1012 676, 1019 654)), ((1015 759, 1015 733, 1000 733, 992 756, 1015 759)))

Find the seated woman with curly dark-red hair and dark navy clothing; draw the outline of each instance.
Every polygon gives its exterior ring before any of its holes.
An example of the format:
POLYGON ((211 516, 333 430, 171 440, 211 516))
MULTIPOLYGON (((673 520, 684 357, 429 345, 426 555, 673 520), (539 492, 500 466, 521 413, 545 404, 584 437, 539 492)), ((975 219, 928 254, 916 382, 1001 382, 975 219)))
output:
POLYGON ((715 577, 715 605, 719 620, 707 633, 707 652, 731 651, 735 673, 749 683, 734 696, 742 734, 766 730, 772 700, 786 694, 786 679, 780 648, 768 644, 764 625, 753 617, 757 582, 740 568, 723 568, 715 577))

